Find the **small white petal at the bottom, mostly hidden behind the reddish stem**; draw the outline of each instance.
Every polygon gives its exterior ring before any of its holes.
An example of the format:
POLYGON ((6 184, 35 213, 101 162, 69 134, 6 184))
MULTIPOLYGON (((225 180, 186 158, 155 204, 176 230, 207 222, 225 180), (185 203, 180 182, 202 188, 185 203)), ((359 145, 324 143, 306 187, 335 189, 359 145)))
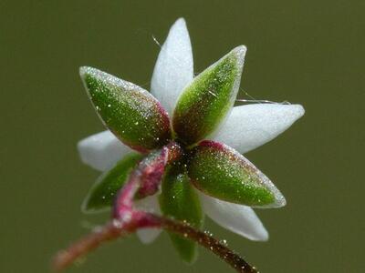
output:
MULTIPOLYGON (((135 206, 141 210, 153 212, 161 215, 159 201, 157 195, 145 197, 135 203, 135 206)), ((137 236, 143 244, 150 244, 161 233, 160 228, 141 228, 137 230, 137 236)))

